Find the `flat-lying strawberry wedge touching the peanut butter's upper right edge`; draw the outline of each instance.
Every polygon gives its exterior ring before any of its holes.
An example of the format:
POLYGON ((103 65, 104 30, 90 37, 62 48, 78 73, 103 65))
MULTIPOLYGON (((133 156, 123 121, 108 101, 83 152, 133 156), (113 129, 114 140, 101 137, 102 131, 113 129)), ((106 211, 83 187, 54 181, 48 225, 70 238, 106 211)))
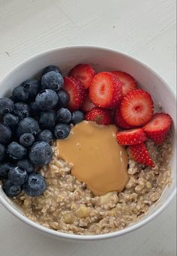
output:
POLYGON ((147 140, 147 135, 142 128, 135 128, 126 131, 118 131, 116 133, 116 138, 118 144, 126 146, 142 143, 143 141, 147 140))

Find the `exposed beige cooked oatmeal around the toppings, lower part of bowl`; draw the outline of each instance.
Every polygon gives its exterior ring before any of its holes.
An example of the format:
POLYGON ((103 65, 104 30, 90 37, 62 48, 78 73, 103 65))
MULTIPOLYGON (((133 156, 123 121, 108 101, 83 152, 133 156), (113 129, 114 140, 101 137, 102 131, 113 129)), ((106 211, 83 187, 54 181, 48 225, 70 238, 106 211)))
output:
POLYGON ((154 168, 136 163, 129 155, 126 187, 102 196, 92 194, 71 175, 71 165, 58 158, 55 142, 52 161, 39 170, 46 179, 46 191, 40 197, 22 192, 13 200, 28 218, 53 230, 85 235, 121 230, 142 218, 170 184, 171 137, 160 146, 146 142, 154 168))

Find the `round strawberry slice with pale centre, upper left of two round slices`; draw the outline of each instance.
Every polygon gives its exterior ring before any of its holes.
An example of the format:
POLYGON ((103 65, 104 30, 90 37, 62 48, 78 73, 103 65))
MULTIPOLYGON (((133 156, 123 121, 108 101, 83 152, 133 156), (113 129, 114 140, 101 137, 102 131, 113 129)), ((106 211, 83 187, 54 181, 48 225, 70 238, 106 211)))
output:
POLYGON ((122 97, 121 82, 110 72, 98 73, 92 79, 89 97, 98 107, 116 107, 122 97))

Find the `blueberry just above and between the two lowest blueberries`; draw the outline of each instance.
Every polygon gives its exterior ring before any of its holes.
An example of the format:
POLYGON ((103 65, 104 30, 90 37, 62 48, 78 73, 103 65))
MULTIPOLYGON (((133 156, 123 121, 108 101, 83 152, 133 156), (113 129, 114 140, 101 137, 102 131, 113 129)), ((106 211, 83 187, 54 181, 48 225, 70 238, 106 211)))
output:
POLYGON ((20 167, 13 167, 9 170, 8 180, 13 185, 23 185, 26 182, 28 174, 26 170, 20 167))

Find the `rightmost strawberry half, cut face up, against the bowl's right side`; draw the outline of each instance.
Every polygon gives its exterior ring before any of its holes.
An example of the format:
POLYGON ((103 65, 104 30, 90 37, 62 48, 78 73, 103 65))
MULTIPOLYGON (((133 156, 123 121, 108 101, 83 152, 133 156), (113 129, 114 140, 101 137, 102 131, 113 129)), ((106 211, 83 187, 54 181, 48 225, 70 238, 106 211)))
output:
POLYGON ((157 144, 161 144, 166 139, 171 125, 171 116, 166 113, 155 113, 143 129, 151 140, 154 140, 157 144))

